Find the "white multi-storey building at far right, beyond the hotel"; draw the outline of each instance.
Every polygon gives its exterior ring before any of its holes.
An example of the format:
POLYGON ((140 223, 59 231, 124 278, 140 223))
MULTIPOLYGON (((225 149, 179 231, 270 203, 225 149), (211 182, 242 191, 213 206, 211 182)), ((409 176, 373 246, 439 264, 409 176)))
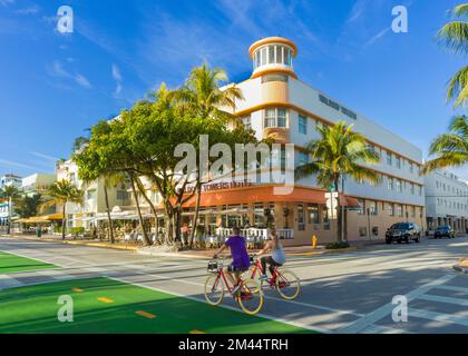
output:
POLYGON ((467 233, 468 184, 447 170, 435 170, 425 177, 425 185, 428 229, 450 225, 467 233))

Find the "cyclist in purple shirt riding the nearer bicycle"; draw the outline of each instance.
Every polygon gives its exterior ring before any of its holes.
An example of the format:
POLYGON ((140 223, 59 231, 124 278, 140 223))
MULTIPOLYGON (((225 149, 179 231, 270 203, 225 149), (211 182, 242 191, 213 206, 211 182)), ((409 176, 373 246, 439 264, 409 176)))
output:
POLYGON ((233 294, 236 294, 238 290, 241 274, 247 270, 251 266, 251 259, 248 257, 245 238, 240 236, 240 228, 234 227, 233 235, 230 236, 226 243, 224 243, 224 245, 221 246, 213 256, 214 258, 217 258, 217 255, 220 255, 226 247, 230 247, 233 261, 230 266, 227 266, 227 276, 234 286, 233 294), (235 280, 233 279, 231 273, 234 273, 235 280))

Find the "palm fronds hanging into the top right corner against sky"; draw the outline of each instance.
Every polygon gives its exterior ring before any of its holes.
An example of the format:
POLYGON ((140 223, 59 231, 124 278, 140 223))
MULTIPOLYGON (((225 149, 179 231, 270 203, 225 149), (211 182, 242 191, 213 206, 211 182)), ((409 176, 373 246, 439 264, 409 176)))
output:
MULTIPOLYGON (((451 10, 455 20, 443 26, 439 32, 440 41, 454 53, 468 53, 468 3, 462 3, 451 10)), ((449 81, 447 101, 455 100, 455 108, 468 102, 468 66, 461 68, 449 81)))

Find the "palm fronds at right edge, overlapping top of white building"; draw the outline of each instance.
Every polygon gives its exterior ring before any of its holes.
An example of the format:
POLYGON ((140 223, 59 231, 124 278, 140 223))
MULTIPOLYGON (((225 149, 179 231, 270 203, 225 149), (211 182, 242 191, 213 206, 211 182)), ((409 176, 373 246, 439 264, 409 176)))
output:
POLYGON ((468 117, 456 116, 450 126, 449 134, 437 137, 429 148, 429 155, 436 158, 427 161, 422 174, 438 168, 459 167, 468 164, 468 117))

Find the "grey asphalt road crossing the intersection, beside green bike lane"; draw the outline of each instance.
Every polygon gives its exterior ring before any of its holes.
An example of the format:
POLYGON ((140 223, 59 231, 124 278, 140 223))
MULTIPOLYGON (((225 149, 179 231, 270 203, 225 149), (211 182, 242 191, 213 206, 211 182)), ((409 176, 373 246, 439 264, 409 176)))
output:
MULTIPOLYGON (((12 238, 0 238, 0 250, 61 267, 0 275, 0 289, 107 276, 204 300, 206 260, 12 238)), ((300 297, 286 301, 266 290, 261 316, 322 333, 468 333, 468 275, 451 269, 462 256, 468 237, 291 257, 300 297), (397 295, 408 300, 406 323, 391 317, 397 295)), ((236 308, 230 298, 223 305, 236 308)))

